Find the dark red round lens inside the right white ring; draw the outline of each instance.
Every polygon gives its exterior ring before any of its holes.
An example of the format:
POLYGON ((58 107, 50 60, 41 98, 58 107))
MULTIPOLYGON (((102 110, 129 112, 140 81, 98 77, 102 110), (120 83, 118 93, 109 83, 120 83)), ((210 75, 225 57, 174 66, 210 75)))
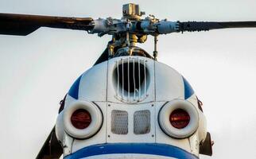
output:
POLYGON ((190 116, 187 111, 176 109, 170 114, 169 120, 173 127, 183 129, 184 127, 188 126, 190 116))

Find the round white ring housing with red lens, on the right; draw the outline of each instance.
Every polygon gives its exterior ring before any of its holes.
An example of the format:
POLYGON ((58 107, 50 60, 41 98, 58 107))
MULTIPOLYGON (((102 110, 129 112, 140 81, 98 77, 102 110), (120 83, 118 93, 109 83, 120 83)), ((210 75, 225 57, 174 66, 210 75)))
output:
POLYGON ((174 99, 161 107, 158 122, 161 130, 170 137, 188 138, 199 126, 199 114, 192 103, 184 99, 174 99))

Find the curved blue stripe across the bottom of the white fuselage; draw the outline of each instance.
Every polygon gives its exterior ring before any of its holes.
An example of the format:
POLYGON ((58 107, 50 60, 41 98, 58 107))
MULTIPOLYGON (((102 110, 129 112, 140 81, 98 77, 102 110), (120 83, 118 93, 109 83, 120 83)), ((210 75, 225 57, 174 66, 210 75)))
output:
POLYGON ((192 153, 180 149, 173 145, 156 144, 156 143, 117 143, 117 144, 100 144, 90 145, 72 153, 64 159, 77 159, 82 157, 91 157, 95 155, 113 154, 113 153, 139 153, 151 154, 165 157, 176 157, 180 159, 198 159, 192 153))

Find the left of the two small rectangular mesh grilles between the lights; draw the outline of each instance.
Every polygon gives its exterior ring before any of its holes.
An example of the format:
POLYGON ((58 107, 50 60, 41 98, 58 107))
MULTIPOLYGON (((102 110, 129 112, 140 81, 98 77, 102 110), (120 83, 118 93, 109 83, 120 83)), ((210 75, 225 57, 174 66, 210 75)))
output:
POLYGON ((111 113, 111 132, 113 134, 128 134, 127 111, 114 110, 111 113))

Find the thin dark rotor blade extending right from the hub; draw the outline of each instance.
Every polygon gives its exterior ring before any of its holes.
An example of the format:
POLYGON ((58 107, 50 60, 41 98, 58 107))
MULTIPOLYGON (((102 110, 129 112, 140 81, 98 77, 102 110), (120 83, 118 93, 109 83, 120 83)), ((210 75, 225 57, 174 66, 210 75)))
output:
POLYGON ((256 28, 256 21, 225 21, 225 22, 207 22, 207 21, 188 21, 180 22, 180 32, 195 32, 208 31, 211 29, 226 29, 226 28, 256 28))

